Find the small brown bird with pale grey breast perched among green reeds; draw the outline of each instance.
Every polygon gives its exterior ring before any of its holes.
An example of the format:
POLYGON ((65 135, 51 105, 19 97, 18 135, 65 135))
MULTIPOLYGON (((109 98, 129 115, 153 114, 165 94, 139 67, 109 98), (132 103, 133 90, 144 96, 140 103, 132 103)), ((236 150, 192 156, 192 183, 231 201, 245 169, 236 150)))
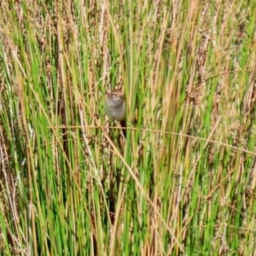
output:
MULTIPOLYGON (((120 89, 111 90, 105 101, 105 112, 108 119, 117 120, 121 126, 126 127, 126 102, 125 94, 120 89)), ((125 134, 125 130, 124 134, 125 134)))

